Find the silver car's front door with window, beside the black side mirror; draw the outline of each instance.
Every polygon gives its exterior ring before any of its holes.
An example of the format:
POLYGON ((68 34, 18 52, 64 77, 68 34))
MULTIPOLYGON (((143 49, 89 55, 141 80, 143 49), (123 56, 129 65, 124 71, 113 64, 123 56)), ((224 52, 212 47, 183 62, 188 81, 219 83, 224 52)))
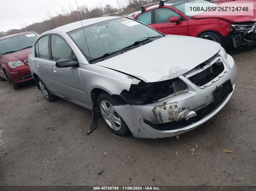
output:
POLYGON ((52 34, 50 47, 52 83, 58 87, 61 96, 79 103, 85 103, 85 91, 80 79, 79 67, 56 67, 56 61, 72 59, 70 46, 61 36, 52 34))

